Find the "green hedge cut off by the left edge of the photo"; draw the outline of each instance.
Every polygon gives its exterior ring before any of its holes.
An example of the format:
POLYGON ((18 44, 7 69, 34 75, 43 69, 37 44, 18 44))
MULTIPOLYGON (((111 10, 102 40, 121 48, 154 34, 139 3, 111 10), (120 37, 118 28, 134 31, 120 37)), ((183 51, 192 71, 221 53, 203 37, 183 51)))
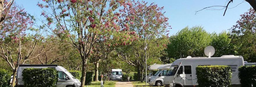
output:
POLYGON ((5 69, 0 69, 0 87, 10 87, 11 74, 5 69))

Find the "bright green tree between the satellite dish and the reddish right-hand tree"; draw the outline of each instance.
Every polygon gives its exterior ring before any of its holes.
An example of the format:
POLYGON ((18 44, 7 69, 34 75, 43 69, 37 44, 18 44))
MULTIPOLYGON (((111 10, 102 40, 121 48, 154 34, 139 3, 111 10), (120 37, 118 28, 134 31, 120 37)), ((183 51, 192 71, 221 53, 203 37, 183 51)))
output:
POLYGON ((214 57, 220 57, 227 54, 235 54, 234 45, 231 43, 230 35, 227 32, 221 32, 220 34, 212 34, 211 46, 215 48, 214 57))

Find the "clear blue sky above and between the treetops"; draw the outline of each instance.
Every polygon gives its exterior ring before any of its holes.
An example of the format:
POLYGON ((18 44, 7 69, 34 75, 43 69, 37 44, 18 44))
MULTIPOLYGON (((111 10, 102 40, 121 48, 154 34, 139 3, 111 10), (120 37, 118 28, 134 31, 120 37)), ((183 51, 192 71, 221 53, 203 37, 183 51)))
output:
MULTIPOLYGON (((38 1, 42 0, 15 0, 16 3, 25 10, 40 18, 41 9, 36 6, 38 1)), ((145 0, 149 3, 156 3, 158 6, 164 6, 165 16, 169 18, 169 23, 173 29, 170 35, 176 34, 182 28, 189 26, 202 26, 207 32, 222 32, 230 29, 240 19, 243 14, 251 8, 250 4, 244 0, 234 0, 230 3, 225 16, 224 10, 202 10, 195 15, 195 11, 208 6, 223 6, 227 4, 227 0, 145 0)), ((216 8, 218 9, 218 8, 216 8)))

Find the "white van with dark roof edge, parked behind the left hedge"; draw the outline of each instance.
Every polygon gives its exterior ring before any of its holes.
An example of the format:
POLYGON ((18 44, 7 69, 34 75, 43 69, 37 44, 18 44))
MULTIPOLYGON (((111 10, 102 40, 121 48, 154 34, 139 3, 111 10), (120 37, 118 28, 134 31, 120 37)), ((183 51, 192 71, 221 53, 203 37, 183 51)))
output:
POLYGON ((57 87, 80 87, 81 82, 69 73, 64 67, 58 65, 19 65, 16 77, 16 87, 23 87, 22 71, 24 68, 55 68, 58 71, 57 87))

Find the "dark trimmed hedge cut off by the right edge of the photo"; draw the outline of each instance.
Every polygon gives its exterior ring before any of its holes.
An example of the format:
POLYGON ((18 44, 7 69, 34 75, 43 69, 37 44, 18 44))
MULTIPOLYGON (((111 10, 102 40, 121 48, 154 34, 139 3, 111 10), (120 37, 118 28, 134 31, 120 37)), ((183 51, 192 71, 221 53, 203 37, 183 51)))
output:
POLYGON ((256 87, 256 66, 241 66, 238 70, 241 87, 256 87))

